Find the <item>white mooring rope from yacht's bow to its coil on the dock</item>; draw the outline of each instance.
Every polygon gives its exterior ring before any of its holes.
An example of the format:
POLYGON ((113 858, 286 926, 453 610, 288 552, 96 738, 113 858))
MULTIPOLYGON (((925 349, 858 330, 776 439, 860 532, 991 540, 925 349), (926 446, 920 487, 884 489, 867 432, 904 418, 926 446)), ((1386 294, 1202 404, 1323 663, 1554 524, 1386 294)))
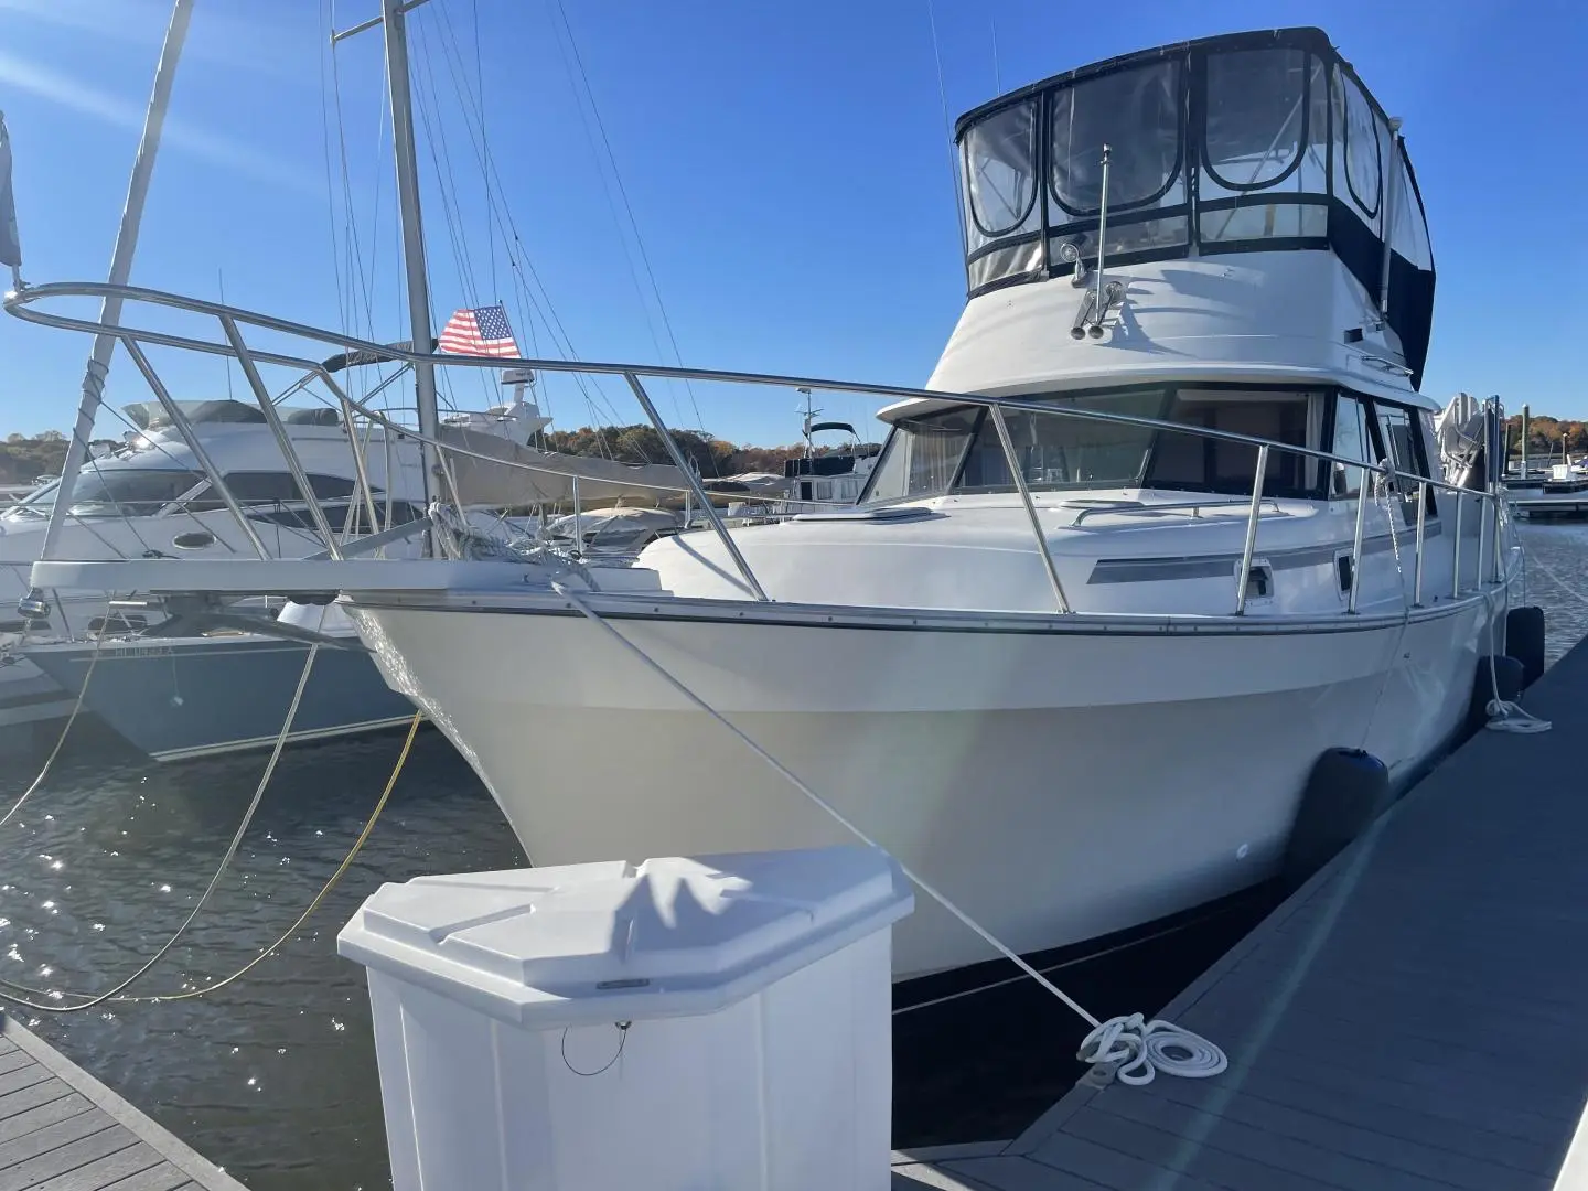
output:
MULTIPOLYGON (((773 770, 777 770, 784 780, 789 781, 800 794, 810 799, 816 807, 826 811, 832 819, 835 819, 845 831, 854 835, 858 840, 878 851, 886 851, 877 840, 861 831, 856 824, 850 823, 843 813, 821 797, 816 791, 807 786, 792 770, 789 770, 781 761, 772 756, 767 750, 754 742, 746 732, 743 732, 737 724, 727 719, 721 711, 711 707, 705 699, 697 696, 694 691, 684 684, 683 680, 676 678, 667 667, 651 657, 645 649, 630 642, 616 627, 608 624, 600 613, 591 608, 580 596, 561 583, 551 584, 553 591, 569 600, 575 608, 578 608, 586 619, 592 624, 602 627, 613 640, 621 643, 629 653, 638 657, 649 670, 667 681, 678 694, 688 699, 691 703, 705 711, 711 719, 723 724, 729 732, 732 732, 746 748, 750 748, 756 756, 765 761, 773 770)), ((1218 1075, 1229 1066, 1224 1053, 1215 1046, 1207 1039, 1199 1034, 1193 1034, 1188 1029, 1174 1026, 1167 1021, 1145 1021, 1140 1013, 1121 1015, 1108 1018, 1107 1021, 1099 1021, 1091 1013, 1088 1013, 1077 1000, 1073 1000, 1064 989, 1048 980, 1042 972, 1027 964, 1019 954, 999 940, 992 932, 981 926, 977 919, 954 905, 945 894, 939 892, 932 885, 921 878, 913 869, 910 869, 904 861, 894 858, 899 869, 908 877, 919 889, 937 902, 940 907, 948 910, 954 918, 958 918, 964 926, 967 926, 977 937, 981 939, 988 946, 997 951, 1000 956, 1008 959, 1015 967, 1024 972, 1027 977, 1035 980, 1042 988, 1051 992, 1054 997, 1069 1005, 1080 1018, 1091 1026, 1091 1032, 1081 1040, 1080 1051, 1077 1058, 1083 1062, 1091 1062, 1097 1066, 1115 1066, 1115 1077, 1121 1083, 1151 1083, 1154 1070, 1162 1070, 1170 1075, 1181 1075, 1186 1078, 1205 1078, 1208 1075, 1218 1075), (1172 1054, 1169 1051, 1183 1051, 1185 1054, 1172 1054)))

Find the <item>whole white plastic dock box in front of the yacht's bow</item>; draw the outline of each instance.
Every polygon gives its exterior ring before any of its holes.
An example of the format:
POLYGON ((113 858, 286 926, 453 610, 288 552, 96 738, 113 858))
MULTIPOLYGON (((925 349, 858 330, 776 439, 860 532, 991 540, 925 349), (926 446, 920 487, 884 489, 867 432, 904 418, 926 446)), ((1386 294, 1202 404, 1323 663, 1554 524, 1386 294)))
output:
POLYGON ((889 1185, 889 926, 873 848, 421 877, 368 969, 395 1191, 889 1185))

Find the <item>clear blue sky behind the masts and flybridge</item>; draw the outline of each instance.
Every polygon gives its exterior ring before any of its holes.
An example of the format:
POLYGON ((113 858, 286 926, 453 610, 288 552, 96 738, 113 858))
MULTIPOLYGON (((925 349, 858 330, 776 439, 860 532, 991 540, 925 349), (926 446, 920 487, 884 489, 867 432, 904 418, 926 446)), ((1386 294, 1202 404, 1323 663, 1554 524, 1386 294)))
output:
MULTIPOLYGON (((335 10, 346 27, 378 3, 335 10)), ((30 281, 103 279, 168 11, 165 0, 0 0, 0 110, 30 281)), ((1588 326, 1580 5, 932 0, 931 11, 951 116, 999 84, 1148 44, 1323 25, 1405 118, 1439 267, 1424 392, 1501 392, 1513 410, 1588 416, 1575 351, 1588 326)), ((137 283, 213 297, 224 279, 237 305, 329 327, 351 310, 349 326, 407 335, 378 30, 335 51, 346 194, 373 268, 368 308, 348 299, 330 17, 324 0, 195 0, 137 283)), ((586 357, 670 362, 676 340, 686 362, 713 367, 904 384, 932 370, 964 272, 927 0, 432 0, 413 13, 411 35, 421 111, 434 113, 430 137, 421 119, 419 159, 438 319, 500 297, 521 343, 551 354, 542 321, 524 326, 511 235, 488 214, 462 116, 478 87, 521 276, 534 268, 586 357), (570 32, 670 333, 607 173, 570 32)), ((86 337, 0 318, 0 434, 68 427, 87 348, 86 337)), ((159 364, 179 395, 225 392, 214 360, 159 364)), ((616 387, 607 392, 622 421, 638 419, 616 387)), ((145 397, 118 359, 108 399, 145 397)), ((657 397, 670 421, 735 441, 797 435, 792 395, 697 386, 657 397)), ((565 429, 591 421, 567 381, 549 383, 543 403, 565 429)), ((832 399, 827 410, 864 419, 870 403, 832 399)), ((103 416, 100 429, 119 427, 103 416)))

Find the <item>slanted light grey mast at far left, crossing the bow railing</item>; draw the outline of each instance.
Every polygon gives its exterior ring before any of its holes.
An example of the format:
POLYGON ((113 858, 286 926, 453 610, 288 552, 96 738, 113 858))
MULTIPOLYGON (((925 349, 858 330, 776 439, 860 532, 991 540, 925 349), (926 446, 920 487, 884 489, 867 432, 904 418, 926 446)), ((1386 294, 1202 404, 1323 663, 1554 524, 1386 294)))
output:
MULTIPOLYGON (((138 141, 138 156, 132 165, 132 179, 127 183, 127 205, 121 211, 121 227, 116 232, 116 248, 110 259, 110 284, 125 286, 132 276, 132 257, 138 249, 138 229, 143 224, 143 205, 149 194, 149 179, 154 176, 154 156, 160 148, 160 130, 165 127, 165 111, 172 103, 172 84, 176 81, 176 62, 183 52, 183 41, 187 40, 187 24, 192 17, 192 0, 176 0, 172 6, 172 22, 165 29, 165 44, 160 49, 160 64, 154 70, 154 91, 149 95, 149 111, 143 119, 143 138, 138 141)), ((121 322, 121 295, 106 294, 100 303, 100 322, 106 327, 121 322)), ((83 399, 78 403, 78 422, 67 441, 67 461, 60 468, 60 486, 56 489, 56 503, 49 511, 49 524, 44 527, 44 543, 40 557, 54 554, 60 538, 60 527, 65 524, 67 510, 71 508, 71 489, 76 488, 78 472, 89 454, 89 435, 94 434, 94 419, 98 414, 105 397, 105 378, 110 375, 110 360, 116 351, 116 337, 100 332, 94 337, 94 349, 89 354, 87 370, 83 373, 83 399)))

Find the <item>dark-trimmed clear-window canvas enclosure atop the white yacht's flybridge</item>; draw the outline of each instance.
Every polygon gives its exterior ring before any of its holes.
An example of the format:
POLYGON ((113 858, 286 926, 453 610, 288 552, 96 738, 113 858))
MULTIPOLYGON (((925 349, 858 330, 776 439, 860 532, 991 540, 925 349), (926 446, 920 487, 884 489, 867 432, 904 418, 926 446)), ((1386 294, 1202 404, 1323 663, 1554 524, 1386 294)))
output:
POLYGON ((1054 75, 954 125, 972 297, 1107 265, 1329 251, 1383 300, 1421 384, 1434 257, 1385 110, 1320 29, 1183 41, 1054 75))

